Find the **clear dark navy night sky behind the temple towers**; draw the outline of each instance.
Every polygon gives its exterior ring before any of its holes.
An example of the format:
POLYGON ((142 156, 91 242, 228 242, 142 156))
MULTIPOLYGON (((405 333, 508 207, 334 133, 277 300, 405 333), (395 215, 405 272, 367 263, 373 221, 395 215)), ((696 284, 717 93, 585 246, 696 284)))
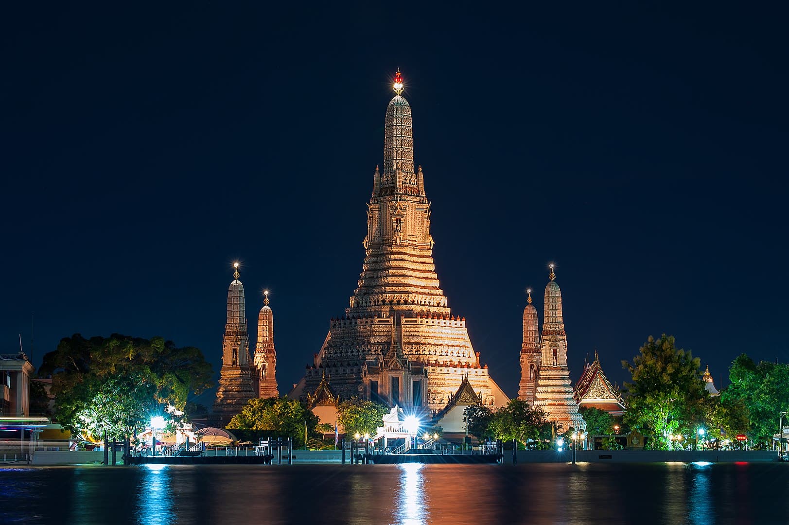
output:
POLYGON ((574 379, 663 332, 719 388, 789 360, 787 13, 266 4, 4 8, 0 351, 35 312, 36 366, 119 332, 218 377, 237 259, 288 392, 357 286, 399 67, 436 271, 508 395, 551 261, 574 379))

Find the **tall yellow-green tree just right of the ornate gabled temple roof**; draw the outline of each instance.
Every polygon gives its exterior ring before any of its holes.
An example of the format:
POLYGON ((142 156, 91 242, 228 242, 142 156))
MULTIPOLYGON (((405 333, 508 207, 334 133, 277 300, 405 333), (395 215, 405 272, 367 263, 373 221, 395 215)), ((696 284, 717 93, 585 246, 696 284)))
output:
POLYGON ((690 435, 704 419, 709 394, 701 381, 701 362, 665 334, 649 336, 640 352, 633 364, 622 362, 633 378, 624 385, 630 394, 624 421, 651 434, 653 448, 668 448, 669 435, 690 435))

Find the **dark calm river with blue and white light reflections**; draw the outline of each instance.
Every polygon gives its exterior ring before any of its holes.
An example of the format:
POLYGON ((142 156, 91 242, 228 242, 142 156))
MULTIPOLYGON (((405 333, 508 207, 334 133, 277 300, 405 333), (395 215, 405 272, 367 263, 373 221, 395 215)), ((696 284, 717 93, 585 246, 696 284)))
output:
POLYGON ((0 523, 789 523, 789 463, 0 468, 0 523))

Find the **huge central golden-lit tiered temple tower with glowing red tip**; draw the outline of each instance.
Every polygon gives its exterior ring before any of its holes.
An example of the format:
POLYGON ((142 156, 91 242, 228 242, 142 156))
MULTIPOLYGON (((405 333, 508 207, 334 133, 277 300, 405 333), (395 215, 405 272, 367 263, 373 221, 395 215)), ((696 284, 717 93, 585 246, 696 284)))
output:
POLYGON ((414 169, 411 107, 399 72, 394 88, 383 169, 372 176, 358 286, 290 396, 312 403, 319 391, 358 396, 429 417, 447 407, 467 378, 482 404, 501 406, 507 396, 474 351, 466 318, 452 315, 439 286, 430 202, 422 169, 414 169))

